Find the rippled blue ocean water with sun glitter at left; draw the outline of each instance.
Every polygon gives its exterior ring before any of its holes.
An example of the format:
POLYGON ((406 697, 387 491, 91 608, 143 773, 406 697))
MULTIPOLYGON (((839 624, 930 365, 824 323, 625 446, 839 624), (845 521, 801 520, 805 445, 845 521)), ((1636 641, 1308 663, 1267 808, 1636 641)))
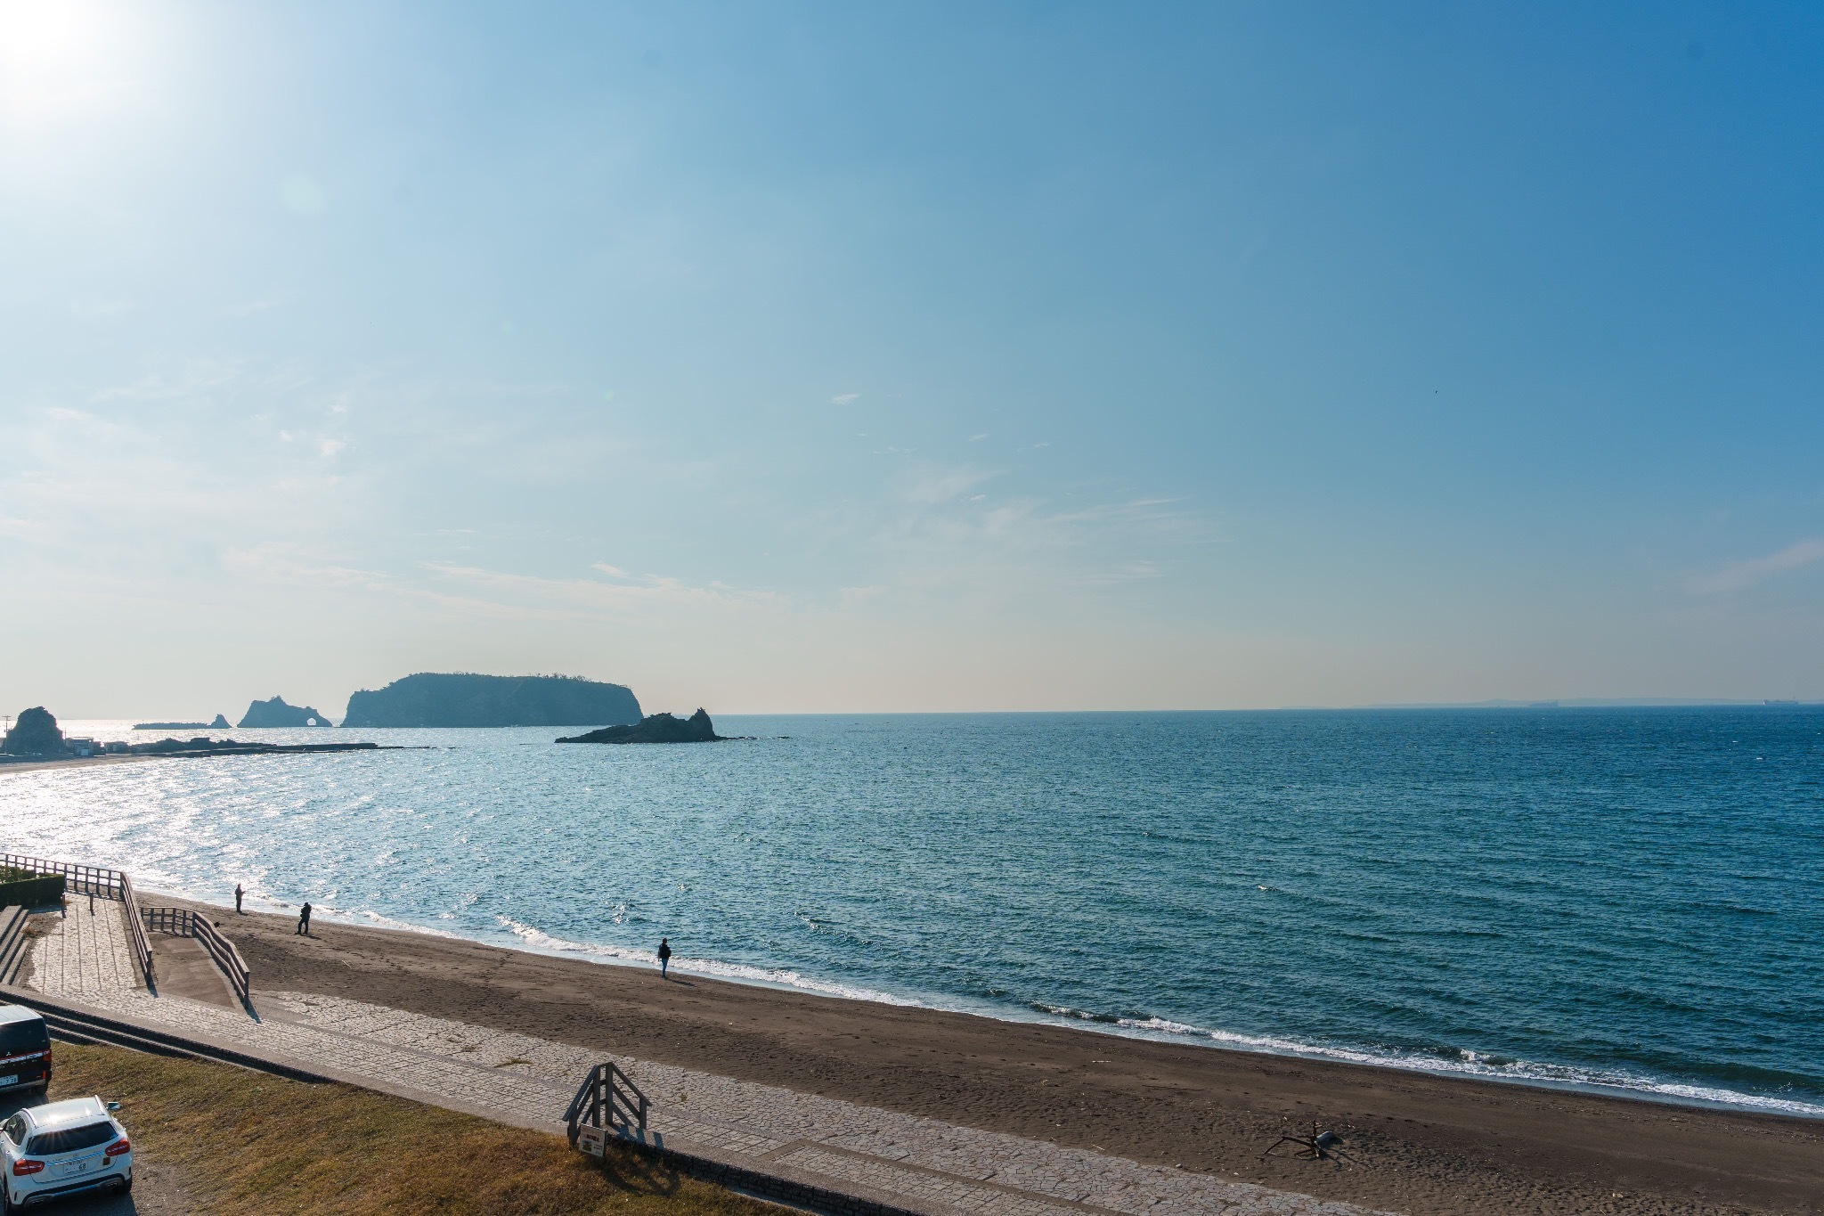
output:
MULTIPOLYGON (((126 737, 130 724, 69 724, 126 737)), ((1255 1050, 1824 1116, 1824 713, 724 718, 4 773, 148 890, 1255 1050)))

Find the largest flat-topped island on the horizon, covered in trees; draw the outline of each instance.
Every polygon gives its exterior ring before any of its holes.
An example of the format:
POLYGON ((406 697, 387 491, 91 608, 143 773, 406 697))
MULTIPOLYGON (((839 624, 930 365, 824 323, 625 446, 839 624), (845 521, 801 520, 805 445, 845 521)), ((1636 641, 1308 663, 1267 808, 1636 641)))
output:
POLYGON ((582 676, 421 671, 348 698, 343 726, 617 726, 640 720, 622 684, 582 676))

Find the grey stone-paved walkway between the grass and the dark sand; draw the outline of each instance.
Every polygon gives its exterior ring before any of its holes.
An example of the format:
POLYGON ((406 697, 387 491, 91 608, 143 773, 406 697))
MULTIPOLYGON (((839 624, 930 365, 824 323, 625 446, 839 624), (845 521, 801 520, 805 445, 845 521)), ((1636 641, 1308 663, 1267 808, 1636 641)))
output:
MULTIPOLYGON (((119 913, 38 943, 31 986, 244 1050, 316 1063, 378 1088, 513 1123, 553 1127, 604 1054, 303 992, 259 994, 261 1021, 133 986, 119 913), (108 941, 109 928, 119 943, 108 941), (100 966, 71 959, 93 950, 100 966), (126 970, 115 961, 124 957, 126 970), (93 972, 95 979, 89 979, 93 972), (109 979, 111 977, 111 979, 109 979), (126 983, 122 983, 126 981, 126 983), (77 986, 67 986, 77 984, 77 986)), ((119 904, 109 904, 119 910, 119 904)), ((86 917, 86 912, 84 912, 86 917)), ((651 1138, 695 1156, 786 1174, 932 1216, 1370 1216, 1352 1203, 1224 1181, 1083 1149, 954 1127, 708 1072, 611 1057, 651 1099, 651 1138)))

